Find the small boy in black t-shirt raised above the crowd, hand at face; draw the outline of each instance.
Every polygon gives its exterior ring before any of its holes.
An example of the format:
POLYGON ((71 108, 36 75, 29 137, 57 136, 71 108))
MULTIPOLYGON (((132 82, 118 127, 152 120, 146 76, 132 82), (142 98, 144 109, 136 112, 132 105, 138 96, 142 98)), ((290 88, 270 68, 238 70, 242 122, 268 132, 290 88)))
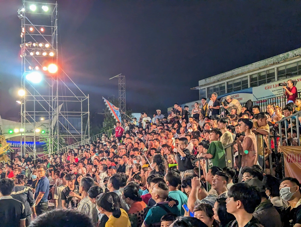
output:
POLYGON ((180 171, 181 177, 183 178, 184 174, 187 172, 193 172, 193 166, 191 164, 190 152, 187 149, 188 139, 180 138, 179 145, 177 149, 177 158, 178 158, 178 170, 180 171))

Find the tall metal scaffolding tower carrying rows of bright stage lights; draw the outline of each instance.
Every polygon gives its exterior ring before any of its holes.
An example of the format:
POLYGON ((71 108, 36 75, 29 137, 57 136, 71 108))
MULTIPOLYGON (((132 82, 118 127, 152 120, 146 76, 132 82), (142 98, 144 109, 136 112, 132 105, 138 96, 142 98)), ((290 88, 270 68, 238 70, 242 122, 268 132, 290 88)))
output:
POLYGON ((18 10, 23 91, 19 102, 21 156, 26 151, 36 158, 39 141, 46 142, 48 152, 54 153, 90 137, 89 95, 60 67, 58 5, 52 2, 24 0, 18 10), (34 143, 28 146, 26 142, 34 143))

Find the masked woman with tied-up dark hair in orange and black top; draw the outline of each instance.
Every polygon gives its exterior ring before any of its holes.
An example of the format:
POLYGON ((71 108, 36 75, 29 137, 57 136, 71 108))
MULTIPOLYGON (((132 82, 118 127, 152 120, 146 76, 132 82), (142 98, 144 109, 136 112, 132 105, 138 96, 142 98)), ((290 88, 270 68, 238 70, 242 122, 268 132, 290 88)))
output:
POLYGON ((141 226, 143 222, 143 209, 147 205, 142 201, 137 188, 134 185, 127 185, 123 189, 122 199, 130 206, 128 210, 129 219, 141 226))

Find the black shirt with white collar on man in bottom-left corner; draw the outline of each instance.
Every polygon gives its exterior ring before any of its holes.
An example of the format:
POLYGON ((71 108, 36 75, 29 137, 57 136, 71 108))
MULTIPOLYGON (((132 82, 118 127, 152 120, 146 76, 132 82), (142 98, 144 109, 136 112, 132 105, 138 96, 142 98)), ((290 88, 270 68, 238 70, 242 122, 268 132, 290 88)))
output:
POLYGON ((11 196, 1 197, 0 217, 0 227, 19 227, 20 220, 26 219, 25 207, 23 203, 11 196))

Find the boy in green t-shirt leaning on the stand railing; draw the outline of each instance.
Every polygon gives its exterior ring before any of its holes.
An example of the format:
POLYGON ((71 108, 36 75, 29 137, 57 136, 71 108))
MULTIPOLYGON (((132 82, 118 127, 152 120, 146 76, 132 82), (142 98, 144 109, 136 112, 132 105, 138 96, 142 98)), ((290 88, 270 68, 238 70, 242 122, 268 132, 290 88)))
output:
POLYGON ((206 159, 211 159, 213 166, 218 166, 219 168, 226 167, 226 155, 225 149, 222 142, 219 141, 222 136, 222 131, 219 128, 213 128, 210 130, 210 146, 207 153, 203 153, 200 157, 206 159))

